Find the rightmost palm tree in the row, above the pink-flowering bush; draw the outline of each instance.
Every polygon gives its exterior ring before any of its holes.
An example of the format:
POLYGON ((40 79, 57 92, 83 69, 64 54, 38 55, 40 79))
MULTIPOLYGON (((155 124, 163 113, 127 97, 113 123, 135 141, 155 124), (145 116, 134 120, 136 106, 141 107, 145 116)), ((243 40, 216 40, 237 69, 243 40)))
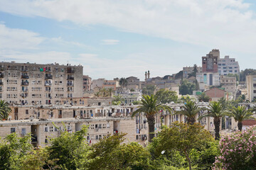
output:
POLYGON ((247 109, 245 106, 233 107, 228 115, 233 117, 236 122, 238 122, 238 130, 242 130, 242 120, 255 119, 252 117, 253 113, 251 109, 247 109))

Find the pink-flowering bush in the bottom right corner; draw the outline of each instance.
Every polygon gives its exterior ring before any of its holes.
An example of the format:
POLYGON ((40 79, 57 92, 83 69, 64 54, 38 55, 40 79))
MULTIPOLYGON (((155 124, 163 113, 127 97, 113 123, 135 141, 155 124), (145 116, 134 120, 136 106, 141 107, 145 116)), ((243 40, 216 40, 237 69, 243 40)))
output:
POLYGON ((223 136, 219 157, 215 157, 213 169, 255 169, 256 127, 223 136))

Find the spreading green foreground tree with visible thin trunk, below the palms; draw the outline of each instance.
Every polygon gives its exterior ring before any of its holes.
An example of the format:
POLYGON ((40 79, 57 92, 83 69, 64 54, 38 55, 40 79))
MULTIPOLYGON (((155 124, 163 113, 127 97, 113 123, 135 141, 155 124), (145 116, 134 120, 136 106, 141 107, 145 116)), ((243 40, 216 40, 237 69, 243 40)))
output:
POLYGON ((153 140, 152 145, 155 146, 156 156, 171 150, 179 152, 186 157, 189 169, 192 169, 193 152, 196 149, 203 149, 211 141, 213 141, 213 137, 199 123, 190 125, 175 122, 170 128, 165 126, 153 140), (159 145, 154 145, 155 141, 159 145))

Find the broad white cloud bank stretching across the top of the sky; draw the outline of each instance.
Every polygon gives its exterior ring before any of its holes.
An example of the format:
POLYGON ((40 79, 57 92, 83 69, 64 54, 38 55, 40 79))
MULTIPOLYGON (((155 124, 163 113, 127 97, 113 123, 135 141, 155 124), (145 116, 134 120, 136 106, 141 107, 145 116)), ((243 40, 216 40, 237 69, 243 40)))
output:
POLYGON ((255 12, 243 0, 0 1, 0 11, 43 16, 206 47, 255 53, 255 12))

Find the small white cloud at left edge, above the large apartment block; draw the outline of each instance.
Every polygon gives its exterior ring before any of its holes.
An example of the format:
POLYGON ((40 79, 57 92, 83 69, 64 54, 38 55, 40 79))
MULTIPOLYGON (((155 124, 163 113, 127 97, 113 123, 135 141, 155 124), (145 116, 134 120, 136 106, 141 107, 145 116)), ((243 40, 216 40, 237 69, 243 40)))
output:
POLYGON ((36 49, 45 38, 28 30, 7 28, 0 23, 0 50, 36 49))

